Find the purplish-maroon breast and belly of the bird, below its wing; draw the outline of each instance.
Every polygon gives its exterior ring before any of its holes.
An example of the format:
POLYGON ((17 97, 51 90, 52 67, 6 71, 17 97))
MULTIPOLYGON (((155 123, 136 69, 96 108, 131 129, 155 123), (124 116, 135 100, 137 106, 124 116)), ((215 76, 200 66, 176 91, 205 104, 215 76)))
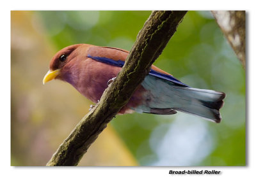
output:
MULTIPOLYGON (((74 66, 73 66, 74 67, 74 66)), ((100 100, 104 90, 108 87, 108 81, 115 78, 122 67, 111 66, 93 59, 81 61, 76 69, 71 69, 73 73, 68 73, 66 81, 75 87, 83 96, 97 103, 100 100), (71 80, 71 81, 70 81, 71 80)), ((145 102, 145 88, 141 85, 132 95, 129 103, 127 103, 120 111, 120 114, 132 112, 132 108, 145 102)))

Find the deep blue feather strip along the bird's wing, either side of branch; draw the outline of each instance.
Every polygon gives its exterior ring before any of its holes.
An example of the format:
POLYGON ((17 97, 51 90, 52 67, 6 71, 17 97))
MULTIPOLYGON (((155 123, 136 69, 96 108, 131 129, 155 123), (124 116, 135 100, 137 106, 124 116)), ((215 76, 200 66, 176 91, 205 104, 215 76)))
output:
MULTIPOLYGON (((124 66, 124 61, 123 60, 113 60, 113 59, 109 59, 109 58, 106 58, 106 57, 95 57, 95 56, 92 56, 92 55, 88 55, 87 57, 89 57, 90 59, 93 59, 93 60, 97 60, 99 62, 103 62, 103 63, 106 63, 106 64, 113 65, 113 66, 118 66, 118 67, 123 67, 124 66)), ((166 80, 166 81, 172 81, 173 83, 176 83, 177 85, 180 85, 180 86, 189 87, 185 83, 182 83, 181 81, 174 78, 172 75, 159 73, 159 72, 155 71, 154 69, 150 69, 150 72, 148 74, 150 76, 155 76, 156 78, 161 78, 161 79, 166 80)))

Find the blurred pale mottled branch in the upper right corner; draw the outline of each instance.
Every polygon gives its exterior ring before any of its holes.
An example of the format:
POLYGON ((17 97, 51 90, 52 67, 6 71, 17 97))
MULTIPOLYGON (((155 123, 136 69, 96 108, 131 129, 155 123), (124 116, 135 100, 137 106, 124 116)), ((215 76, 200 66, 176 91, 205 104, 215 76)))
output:
POLYGON ((212 14, 245 69, 245 11, 212 11, 212 14))

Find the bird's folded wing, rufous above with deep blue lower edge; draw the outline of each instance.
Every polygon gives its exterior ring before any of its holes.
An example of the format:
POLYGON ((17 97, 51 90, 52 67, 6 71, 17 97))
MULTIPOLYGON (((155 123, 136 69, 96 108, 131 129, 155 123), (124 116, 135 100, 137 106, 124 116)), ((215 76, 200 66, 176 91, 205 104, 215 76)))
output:
MULTIPOLYGON (((108 46, 91 46, 88 49, 87 57, 113 66, 123 67, 128 54, 129 52, 127 50, 123 50, 121 48, 113 48, 108 46)), ((148 74, 156 78, 171 81, 172 83, 175 83, 179 86, 189 87, 188 85, 174 78, 172 74, 166 73, 154 65, 152 65, 148 74)))

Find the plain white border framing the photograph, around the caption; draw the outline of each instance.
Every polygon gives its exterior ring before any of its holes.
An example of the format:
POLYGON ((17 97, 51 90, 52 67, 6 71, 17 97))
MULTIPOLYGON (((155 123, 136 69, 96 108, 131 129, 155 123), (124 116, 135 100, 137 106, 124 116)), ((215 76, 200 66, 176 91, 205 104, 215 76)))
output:
MULTIPOLYGON (((1 174, 4 176, 172 176, 170 169, 216 169, 221 176, 255 174, 255 10, 253 1, 5 1, 1 3, 1 174), (61 3, 61 4, 60 4, 61 3), (10 167, 10 10, 246 10, 246 167, 10 167), (254 49, 254 50, 253 50, 254 49), (6 133, 7 132, 7 133, 6 133), (8 136, 9 135, 9 136, 8 136)), ((181 175, 179 175, 181 176, 181 175)), ((188 174, 186 175, 188 176, 188 174)), ((193 175, 195 176, 195 175, 193 175)))

